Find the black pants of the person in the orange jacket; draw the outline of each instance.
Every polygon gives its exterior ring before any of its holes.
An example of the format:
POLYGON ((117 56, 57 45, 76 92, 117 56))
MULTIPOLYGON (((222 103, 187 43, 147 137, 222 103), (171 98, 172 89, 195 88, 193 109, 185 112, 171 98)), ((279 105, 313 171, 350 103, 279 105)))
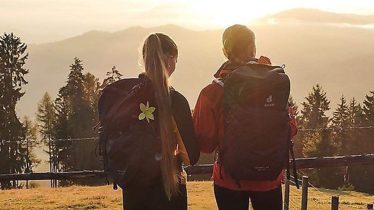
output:
POLYGON ((219 210, 248 210, 249 198, 254 210, 282 210, 282 187, 257 191, 236 191, 214 184, 214 196, 219 210))

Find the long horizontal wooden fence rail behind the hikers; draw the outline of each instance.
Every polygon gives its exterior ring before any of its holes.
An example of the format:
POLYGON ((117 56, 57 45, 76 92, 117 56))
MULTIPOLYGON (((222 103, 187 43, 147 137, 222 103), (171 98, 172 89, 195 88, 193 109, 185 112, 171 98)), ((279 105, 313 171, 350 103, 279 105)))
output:
MULTIPOLYGON (((292 160, 290 160, 292 164, 292 160)), ((374 154, 365 155, 346 155, 334 157, 314 157, 314 158, 296 158, 296 167, 298 169, 338 167, 338 166, 359 166, 374 165, 374 154)), ((291 165, 292 166, 292 165, 291 165)), ((187 174, 198 175, 212 173, 213 164, 188 166, 185 168, 187 174)), ((0 181, 3 180, 50 180, 50 179, 85 179, 85 178, 103 178, 105 172, 100 170, 84 170, 76 172, 36 172, 22 174, 0 174, 0 181)))

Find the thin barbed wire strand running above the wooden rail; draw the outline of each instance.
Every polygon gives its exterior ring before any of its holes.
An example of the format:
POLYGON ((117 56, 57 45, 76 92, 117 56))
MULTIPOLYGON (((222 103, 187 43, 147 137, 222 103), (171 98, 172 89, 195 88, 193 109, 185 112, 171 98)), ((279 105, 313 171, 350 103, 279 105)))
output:
MULTIPOLYGON (((374 126, 359 126, 359 127, 323 127, 323 128, 303 128, 298 131, 313 131, 313 130, 355 130, 355 129, 374 129, 374 126)), ((73 139, 50 139, 50 140, 19 140, 19 141, 3 141, 0 143, 27 143, 27 142, 56 142, 56 141, 80 141, 80 140, 98 140, 98 137, 88 138, 73 138, 73 139)))

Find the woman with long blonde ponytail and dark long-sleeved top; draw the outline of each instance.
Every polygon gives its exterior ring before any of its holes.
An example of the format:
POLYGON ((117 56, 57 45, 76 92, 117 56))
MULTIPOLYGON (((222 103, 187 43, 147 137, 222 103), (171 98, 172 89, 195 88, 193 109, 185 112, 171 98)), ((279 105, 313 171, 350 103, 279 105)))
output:
POLYGON ((142 58, 145 73, 141 77, 151 83, 154 104, 145 99, 147 105, 143 109, 140 105, 139 120, 147 120, 154 126, 156 139, 160 141, 161 173, 155 184, 123 189, 123 208, 187 209, 187 177, 183 166, 195 164, 200 151, 190 106, 168 81, 177 64, 178 47, 166 34, 150 34, 142 47, 142 58))

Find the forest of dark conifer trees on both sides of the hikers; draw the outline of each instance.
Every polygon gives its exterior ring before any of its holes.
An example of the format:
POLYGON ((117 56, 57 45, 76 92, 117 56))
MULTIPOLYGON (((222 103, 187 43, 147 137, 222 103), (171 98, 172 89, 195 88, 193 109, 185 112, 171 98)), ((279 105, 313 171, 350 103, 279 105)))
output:
MULTIPOLYGON (((79 58, 72 59, 66 83, 53 99, 48 93, 40 99, 36 121, 20 120, 16 104, 25 92, 28 81, 24 68, 28 58, 27 46, 13 34, 0 37, 0 173, 33 172, 40 160, 33 147, 40 140, 46 145, 52 172, 100 170, 102 163, 95 157, 97 140, 56 140, 91 138, 96 133, 91 127, 98 122, 97 101, 100 90, 120 80, 122 74, 114 66, 101 83, 99 78, 84 69, 79 58), (25 143, 26 142, 26 143, 25 143)), ((69 68, 67 67, 67 68, 69 68)), ((32 71, 32 70, 31 70, 32 71)), ((294 137, 296 157, 320 157, 348 154, 366 154, 374 151, 374 129, 347 129, 374 126, 374 90, 365 101, 346 99, 341 95, 334 110, 328 94, 316 84, 304 101, 289 101, 295 111, 299 133, 294 137), (324 128, 311 129, 310 128, 324 128), (340 129, 345 128, 345 129, 340 129)), ((197 93, 196 93, 197 94, 197 93)), ((365 94, 365 93, 357 93, 365 94)), ((203 157, 203 156, 202 156, 203 157)), ((374 169, 367 166, 300 170, 315 186, 332 189, 355 189, 374 193, 374 169)), ((71 184, 99 185, 103 180, 51 181, 51 186, 71 184)), ((22 188, 15 181, 1 182, 1 189, 22 188)))

